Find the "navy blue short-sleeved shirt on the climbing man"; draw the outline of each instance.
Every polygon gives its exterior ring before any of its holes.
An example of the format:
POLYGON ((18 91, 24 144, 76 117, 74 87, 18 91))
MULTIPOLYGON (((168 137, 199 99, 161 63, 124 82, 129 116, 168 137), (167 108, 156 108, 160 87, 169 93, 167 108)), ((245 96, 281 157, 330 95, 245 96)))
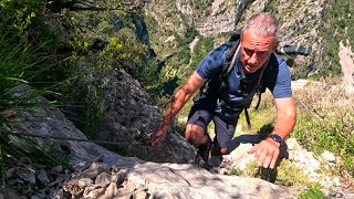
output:
MULTIPOLYGON (((228 46, 230 43, 211 51, 196 69, 202 78, 208 80, 208 85, 200 90, 194 102, 204 104, 221 116, 238 118, 243 108, 249 107, 252 102, 262 67, 254 73, 244 74, 240 61, 237 60, 232 71, 220 78, 228 46)), ((272 92, 274 98, 292 96, 289 67, 278 54, 271 55, 261 82, 272 92)))

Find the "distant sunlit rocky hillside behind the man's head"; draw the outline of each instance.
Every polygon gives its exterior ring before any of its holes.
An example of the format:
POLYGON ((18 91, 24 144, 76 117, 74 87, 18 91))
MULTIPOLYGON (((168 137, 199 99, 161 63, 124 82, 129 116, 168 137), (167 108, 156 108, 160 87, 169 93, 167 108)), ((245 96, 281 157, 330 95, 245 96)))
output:
POLYGON ((163 73, 179 78, 188 75, 214 46, 227 41, 235 28, 260 11, 272 12, 280 19, 281 45, 303 44, 313 49, 310 56, 298 56, 291 64, 293 80, 342 76, 340 42, 348 41, 347 46, 354 42, 350 34, 354 2, 346 0, 155 0, 144 10, 157 56, 174 54, 166 60, 163 73), (189 44, 195 38, 198 50, 191 51, 189 44))

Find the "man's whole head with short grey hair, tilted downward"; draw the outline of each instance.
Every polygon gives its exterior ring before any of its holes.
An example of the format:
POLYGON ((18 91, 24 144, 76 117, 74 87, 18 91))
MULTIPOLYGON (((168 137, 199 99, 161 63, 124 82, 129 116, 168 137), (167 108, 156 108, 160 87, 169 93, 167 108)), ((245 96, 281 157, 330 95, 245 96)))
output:
POLYGON ((269 12, 252 15, 241 34, 241 63, 247 73, 254 73, 275 51, 279 22, 269 12))

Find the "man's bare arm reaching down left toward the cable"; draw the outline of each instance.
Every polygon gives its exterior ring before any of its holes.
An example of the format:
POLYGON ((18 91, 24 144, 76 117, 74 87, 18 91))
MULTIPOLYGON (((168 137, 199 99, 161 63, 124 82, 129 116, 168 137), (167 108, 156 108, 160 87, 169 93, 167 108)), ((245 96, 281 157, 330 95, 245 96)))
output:
POLYGON ((160 123, 159 128, 152 135, 152 146, 158 145, 168 127, 173 123, 175 116, 179 113, 179 111, 184 107, 187 101, 191 97, 191 95, 199 90, 206 80, 200 77, 198 73, 195 71, 186 81, 186 83, 176 92, 170 104, 168 105, 163 122, 160 123))

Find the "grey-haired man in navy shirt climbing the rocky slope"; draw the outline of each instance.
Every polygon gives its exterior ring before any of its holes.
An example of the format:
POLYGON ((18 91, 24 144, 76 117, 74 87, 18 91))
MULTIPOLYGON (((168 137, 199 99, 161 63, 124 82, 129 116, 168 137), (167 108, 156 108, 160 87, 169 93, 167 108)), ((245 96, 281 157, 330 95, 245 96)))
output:
POLYGON ((241 32, 236 65, 222 80, 219 75, 230 44, 222 44, 210 52, 176 92, 160 127, 152 135, 152 145, 156 146, 162 142, 175 116, 200 88, 189 113, 185 130, 186 139, 192 145, 208 143, 209 136, 206 129, 214 119, 217 145, 211 153, 212 155, 230 153, 227 146, 235 134, 239 115, 251 104, 257 92, 258 80, 264 75, 263 83, 274 97, 277 121, 270 136, 248 153, 254 154, 259 166, 274 168, 280 143, 293 129, 296 118, 289 69, 284 60, 274 54, 279 44, 278 30, 279 22, 272 14, 259 13, 251 17, 241 32), (275 66, 266 67, 271 59, 275 61, 275 66), (218 80, 221 81, 222 86, 218 80))

